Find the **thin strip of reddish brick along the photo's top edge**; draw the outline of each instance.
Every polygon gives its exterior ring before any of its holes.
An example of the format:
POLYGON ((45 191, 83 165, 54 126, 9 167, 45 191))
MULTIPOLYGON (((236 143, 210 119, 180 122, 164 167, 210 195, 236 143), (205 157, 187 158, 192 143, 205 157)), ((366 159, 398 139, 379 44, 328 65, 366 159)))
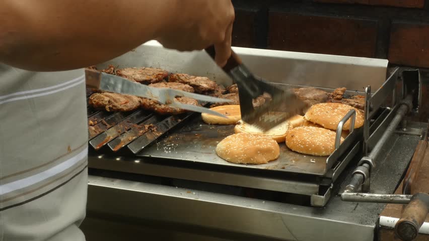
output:
POLYGON ((424 0, 314 0, 314 2, 333 4, 365 4, 420 9, 424 7, 424 0))

